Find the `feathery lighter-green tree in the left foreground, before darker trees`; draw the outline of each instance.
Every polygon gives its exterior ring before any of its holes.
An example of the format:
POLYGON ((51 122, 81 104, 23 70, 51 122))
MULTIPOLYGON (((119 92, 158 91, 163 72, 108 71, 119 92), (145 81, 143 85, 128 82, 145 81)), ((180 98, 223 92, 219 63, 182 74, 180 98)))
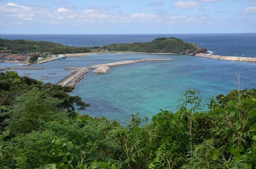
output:
POLYGON ((6 128, 13 130, 14 134, 28 133, 36 130, 41 121, 60 116, 61 110, 56 105, 61 103, 61 100, 49 96, 48 92, 49 90, 33 88, 23 96, 17 97, 6 120, 6 128))

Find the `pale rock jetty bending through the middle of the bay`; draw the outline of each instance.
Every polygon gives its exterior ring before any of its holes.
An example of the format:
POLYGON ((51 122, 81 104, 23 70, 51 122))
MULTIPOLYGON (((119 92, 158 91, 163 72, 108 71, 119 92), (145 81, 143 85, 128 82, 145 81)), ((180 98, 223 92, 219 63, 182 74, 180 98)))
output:
POLYGON ((64 79, 61 79, 56 83, 56 85, 61 86, 76 86, 86 73, 89 72, 89 69, 95 69, 93 73, 107 73, 111 66, 119 66, 124 64, 132 64, 137 62, 146 62, 146 61, 172 61, 172 59, 141 59, 136 61, 122 61, 122 62, 112 62, 105 64, 96 64, 87 67, 65 67, 64 69, 72 70, 69 75, 67 75, 64 79))

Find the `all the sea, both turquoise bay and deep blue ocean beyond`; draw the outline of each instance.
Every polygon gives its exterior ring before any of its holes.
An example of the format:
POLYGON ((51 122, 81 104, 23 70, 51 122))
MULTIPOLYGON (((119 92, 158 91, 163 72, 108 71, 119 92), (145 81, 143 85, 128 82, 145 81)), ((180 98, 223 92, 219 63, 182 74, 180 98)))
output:
MULTIPOLYGON (((256 57, 256 33, 237 34, 154 34, 154 35, 6 35, 2 39, 26 39, 57 42, 68 46, 102 46, 125 42, 149 42, 158 37, 176 37, 197 46, 207 48, 216 55, 256 57)), ((31 73, 29 77, 55 72, 46 82, 56 83, 70 73, 64 66, 90 66, 92 64, 137 60, 171 58, 173 61, 139 62, 113 66, 106 74, 92 71, 78 83, 72 95, 82 97, 91 104, 81 114, 93 117, 105 116, 127 122, 132 113, 151 118, 159 108, 175 112, 177 100, 184 90, 196 88, 204 100, 218 94, 227 94, 237 88, 240 73, 240 88, 256 88, 256 63, 223 61, 188 55, 154 55, 108 53, 86 55, 82 58, 67 58, 34 64, 44 70, 17 70, 19 75, 31 73)), ((17 66, 16 63, 0 63, 0 67, 17 66)))

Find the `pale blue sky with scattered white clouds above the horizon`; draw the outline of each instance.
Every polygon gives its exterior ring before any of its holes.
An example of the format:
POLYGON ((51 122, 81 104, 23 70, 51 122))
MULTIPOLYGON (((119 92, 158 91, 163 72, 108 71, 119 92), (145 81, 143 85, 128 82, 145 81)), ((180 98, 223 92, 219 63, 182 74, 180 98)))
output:
POLYGON ((0 33, 256 32, 256 0, 0 0, 0 33))

